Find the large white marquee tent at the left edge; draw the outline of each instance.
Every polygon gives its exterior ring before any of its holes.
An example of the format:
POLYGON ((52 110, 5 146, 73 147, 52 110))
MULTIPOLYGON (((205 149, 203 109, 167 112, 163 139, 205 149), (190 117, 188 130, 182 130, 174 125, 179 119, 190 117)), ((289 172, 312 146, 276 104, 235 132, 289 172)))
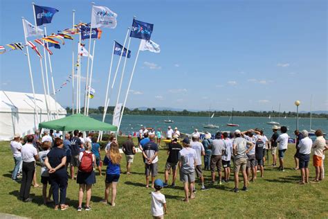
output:
MULTIPOLYGON (((44 94, 35 94, 35 99, 38 119, 35 113, 33 94, 0 91, 0 141, 10 140, 15 134, 21 134, 21 136, 33 134, 38 123, 48 121, 44 94)), ((56 103, 51 96, 47 99, 51 112, 50 120, 66 116, 66 109, 56 103)))

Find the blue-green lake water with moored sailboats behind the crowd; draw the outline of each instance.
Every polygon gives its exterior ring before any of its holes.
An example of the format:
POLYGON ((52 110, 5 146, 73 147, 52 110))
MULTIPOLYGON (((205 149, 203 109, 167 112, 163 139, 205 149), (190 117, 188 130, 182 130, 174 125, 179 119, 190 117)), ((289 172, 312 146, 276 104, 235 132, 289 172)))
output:
MULTIPOLYGON (((94 119, 102 120, 102 115, 93 114, 91 115, 94 119)), ((233 131, 237 128, 239 130, 248 130, 250 128, 261 128, 266 134, 271 134, 272 125, 266 124, 268 118, 265 117, 234 117, 233 123, 239 124, 239 127, 229 127, 226 126, 228 123, 229 117, 214 117, 210 119, 210 123, 214 125, 219 125, 219 129, 205 129, 203 124, 208 123, 208 117, 203 116, 170 116, 170 119, 174 123, 164 123, 164 120, 167 120, 167 116, 141 116, 141 115, 124 115, 122 118, 122 124, 120 130, 123 134, 128 134, 131 132, 136 132, 139 130, 140 125, 145 127, 152 128, 161 128, 161 130, 167 130, 167 126, 172 126, 172 128, 179 128, 180 132, 183 133, 192 133, 194 129, 197 128, 199 132, 205 132, 208 130, 212 134, 221 131, 233 131)), ((111 123, 112 116, 106 116, 106 123, 111 123)), ((277 118, 274 118, 273 121, 278 121, 277 118)), ((280 124, 286 125, 289 128, 289 135, 293 134, 293 131, 296 128, 296 119, 295 118, 280 118, 280 124)), ((301 118, 299 119, 299 129, 300 130, 309 130, 310 129, 310 119, 301 118)), ((324 132, 328 131, 328 120, 327 119, 312 119, 312 129, 321 129, 324 132)))

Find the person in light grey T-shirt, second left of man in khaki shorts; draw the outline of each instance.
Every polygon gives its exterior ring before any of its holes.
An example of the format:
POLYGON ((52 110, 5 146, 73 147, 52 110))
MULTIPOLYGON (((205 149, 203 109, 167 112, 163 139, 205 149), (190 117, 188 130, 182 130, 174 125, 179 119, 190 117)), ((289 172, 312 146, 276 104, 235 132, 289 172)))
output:
POLYGON ((224 153, 224 148, 226 148, 226 143, 221 139, 221 132, 215 134, 215 139, 213 143, 210 144, 210 149, 212 150, 212 155, 210 157, 210 172, 212 175, 212 184, 215 184, 215 167, 217 167, 217 173, 219 173, 219 181, 217 184, 222 184, 222 154, 224 153))

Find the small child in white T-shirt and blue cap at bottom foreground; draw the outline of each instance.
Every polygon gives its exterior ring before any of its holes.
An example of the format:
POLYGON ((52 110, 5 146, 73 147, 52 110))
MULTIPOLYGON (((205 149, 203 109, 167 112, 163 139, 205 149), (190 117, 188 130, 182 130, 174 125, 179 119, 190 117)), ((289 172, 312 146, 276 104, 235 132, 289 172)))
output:
POLYGON ((164 213, 167 213, 165 195, 161 193, 163 185, 161 179, 156 179, 154 182, 155 191, 150 193, 152 198, 152 216, 156 219, 164 218, 164 213))

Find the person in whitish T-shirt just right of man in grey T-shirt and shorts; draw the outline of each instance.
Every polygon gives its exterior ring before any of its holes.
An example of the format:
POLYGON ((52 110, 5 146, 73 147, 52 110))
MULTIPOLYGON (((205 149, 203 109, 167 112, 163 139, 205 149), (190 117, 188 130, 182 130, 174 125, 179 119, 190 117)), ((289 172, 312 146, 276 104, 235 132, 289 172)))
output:
MULTIPOLYGON (((205 149, 202 143, 198 141, 198 135, 195 134, 192 136, 192 142, 190 143, 190 148, 194 149, 196 151, 196 166, 194 167, 196 171, 197 177, 201 179, 201 190, 206 190, 204 186, 204 177, 203 177, 203 171, 201 168, 201 156, 205 155, 205 149)), ((194 191, 196 191, 196 188, 194 186, 194 191)))

